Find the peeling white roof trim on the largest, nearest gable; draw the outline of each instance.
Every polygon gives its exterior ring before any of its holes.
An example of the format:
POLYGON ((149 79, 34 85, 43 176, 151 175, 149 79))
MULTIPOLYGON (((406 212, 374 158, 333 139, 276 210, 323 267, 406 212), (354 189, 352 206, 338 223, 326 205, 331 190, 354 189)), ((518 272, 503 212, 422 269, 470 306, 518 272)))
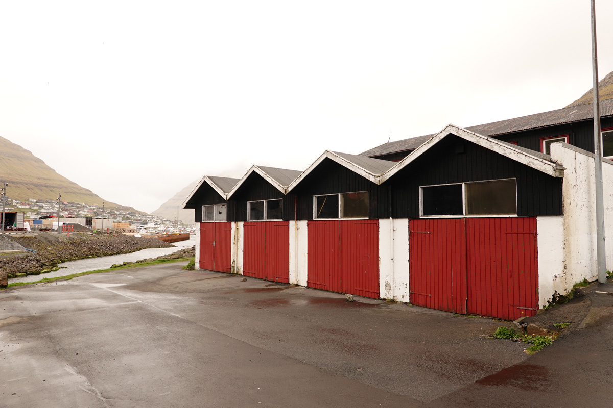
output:
POLYGON ((511 160, 519 161, 519 163, 549 174, 549 176, 562 177, 563 172, 560 172, 560 168, 556 163, 552 163, 551 161, 545 160, 544 158, 538 157, 536 155, 531 155, 524 150, 517 149, 512 144, 506 144, 501 141, 498 141, 497 139, 482 136, 478 133, 471 132, 470 130, 466 130, 464 128, 449 124, 443 130, 441 130, 441 132, 436 133, 436 135, 428 139, 427 142, 417 147, 417 149, 413 150, 413 152, 411 152, 411 154, 409 154, 407 157, 398 161, 397 165, 384 172, 384 174, 382 174, 380 177, 380 182, 383 183, 385 180, 394 176, 394 174, 400 171, 400 169, 405 168, 405 166, 411 163, 411 161, 414 161, 417 157, 424 154, 428 149, 430 149, 430 147, 434 146, 436 143, 438 143, 441 139, 443 139, 450 133, 453 133, 460 138, 473 142, 474 144, 478 144, 481 147, 485 147, 485 149, 497 152, 498 154, 506 156, 511 160))

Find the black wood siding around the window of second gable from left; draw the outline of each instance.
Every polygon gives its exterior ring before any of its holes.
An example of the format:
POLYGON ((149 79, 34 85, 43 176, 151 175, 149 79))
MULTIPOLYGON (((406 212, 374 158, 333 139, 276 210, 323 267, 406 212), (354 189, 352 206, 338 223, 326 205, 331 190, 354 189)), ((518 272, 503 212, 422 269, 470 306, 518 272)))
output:
POLYGON ((245 182, 230 197, 234 202, 236 217, 232 221, 247 221, 247 202, 283 199, 283 220, 294 219, 294 195, 284 195, 256 172, 249 174, 245 182))

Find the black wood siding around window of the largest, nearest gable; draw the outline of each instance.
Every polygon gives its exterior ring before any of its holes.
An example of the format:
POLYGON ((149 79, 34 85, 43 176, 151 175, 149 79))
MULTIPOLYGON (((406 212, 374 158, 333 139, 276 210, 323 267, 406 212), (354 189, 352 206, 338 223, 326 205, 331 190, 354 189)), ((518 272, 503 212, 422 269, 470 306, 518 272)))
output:
POLYGON ((562 179, 455 135, 446 136, 382 185, 392 189, 392 216, 419 218, 419 187, 517 179, 517 215, 562 215, 562 179))

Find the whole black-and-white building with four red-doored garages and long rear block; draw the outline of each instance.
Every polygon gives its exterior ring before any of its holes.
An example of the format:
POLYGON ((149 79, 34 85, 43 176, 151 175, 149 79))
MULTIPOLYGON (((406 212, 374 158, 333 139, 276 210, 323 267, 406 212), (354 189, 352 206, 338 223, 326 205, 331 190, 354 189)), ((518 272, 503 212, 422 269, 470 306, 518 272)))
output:
MULTIPOLYGON (((613 207, 613 99, 601 103, 613 207)), ((196 266, 460 314, 531 316, 596 278, 592 103, 205 176, 196 266)), ((605 229, 613 231, 613 213, 605 229)), ((613 246, 607 246, 607 269, 613 246)))

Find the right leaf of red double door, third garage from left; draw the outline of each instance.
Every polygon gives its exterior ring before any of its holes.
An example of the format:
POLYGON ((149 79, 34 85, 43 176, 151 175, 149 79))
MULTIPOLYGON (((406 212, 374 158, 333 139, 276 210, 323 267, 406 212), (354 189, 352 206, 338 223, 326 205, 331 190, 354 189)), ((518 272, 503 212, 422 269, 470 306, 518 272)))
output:
POLYGON ((340 221, 341 291, 379 299, 379 220, 340 221))

